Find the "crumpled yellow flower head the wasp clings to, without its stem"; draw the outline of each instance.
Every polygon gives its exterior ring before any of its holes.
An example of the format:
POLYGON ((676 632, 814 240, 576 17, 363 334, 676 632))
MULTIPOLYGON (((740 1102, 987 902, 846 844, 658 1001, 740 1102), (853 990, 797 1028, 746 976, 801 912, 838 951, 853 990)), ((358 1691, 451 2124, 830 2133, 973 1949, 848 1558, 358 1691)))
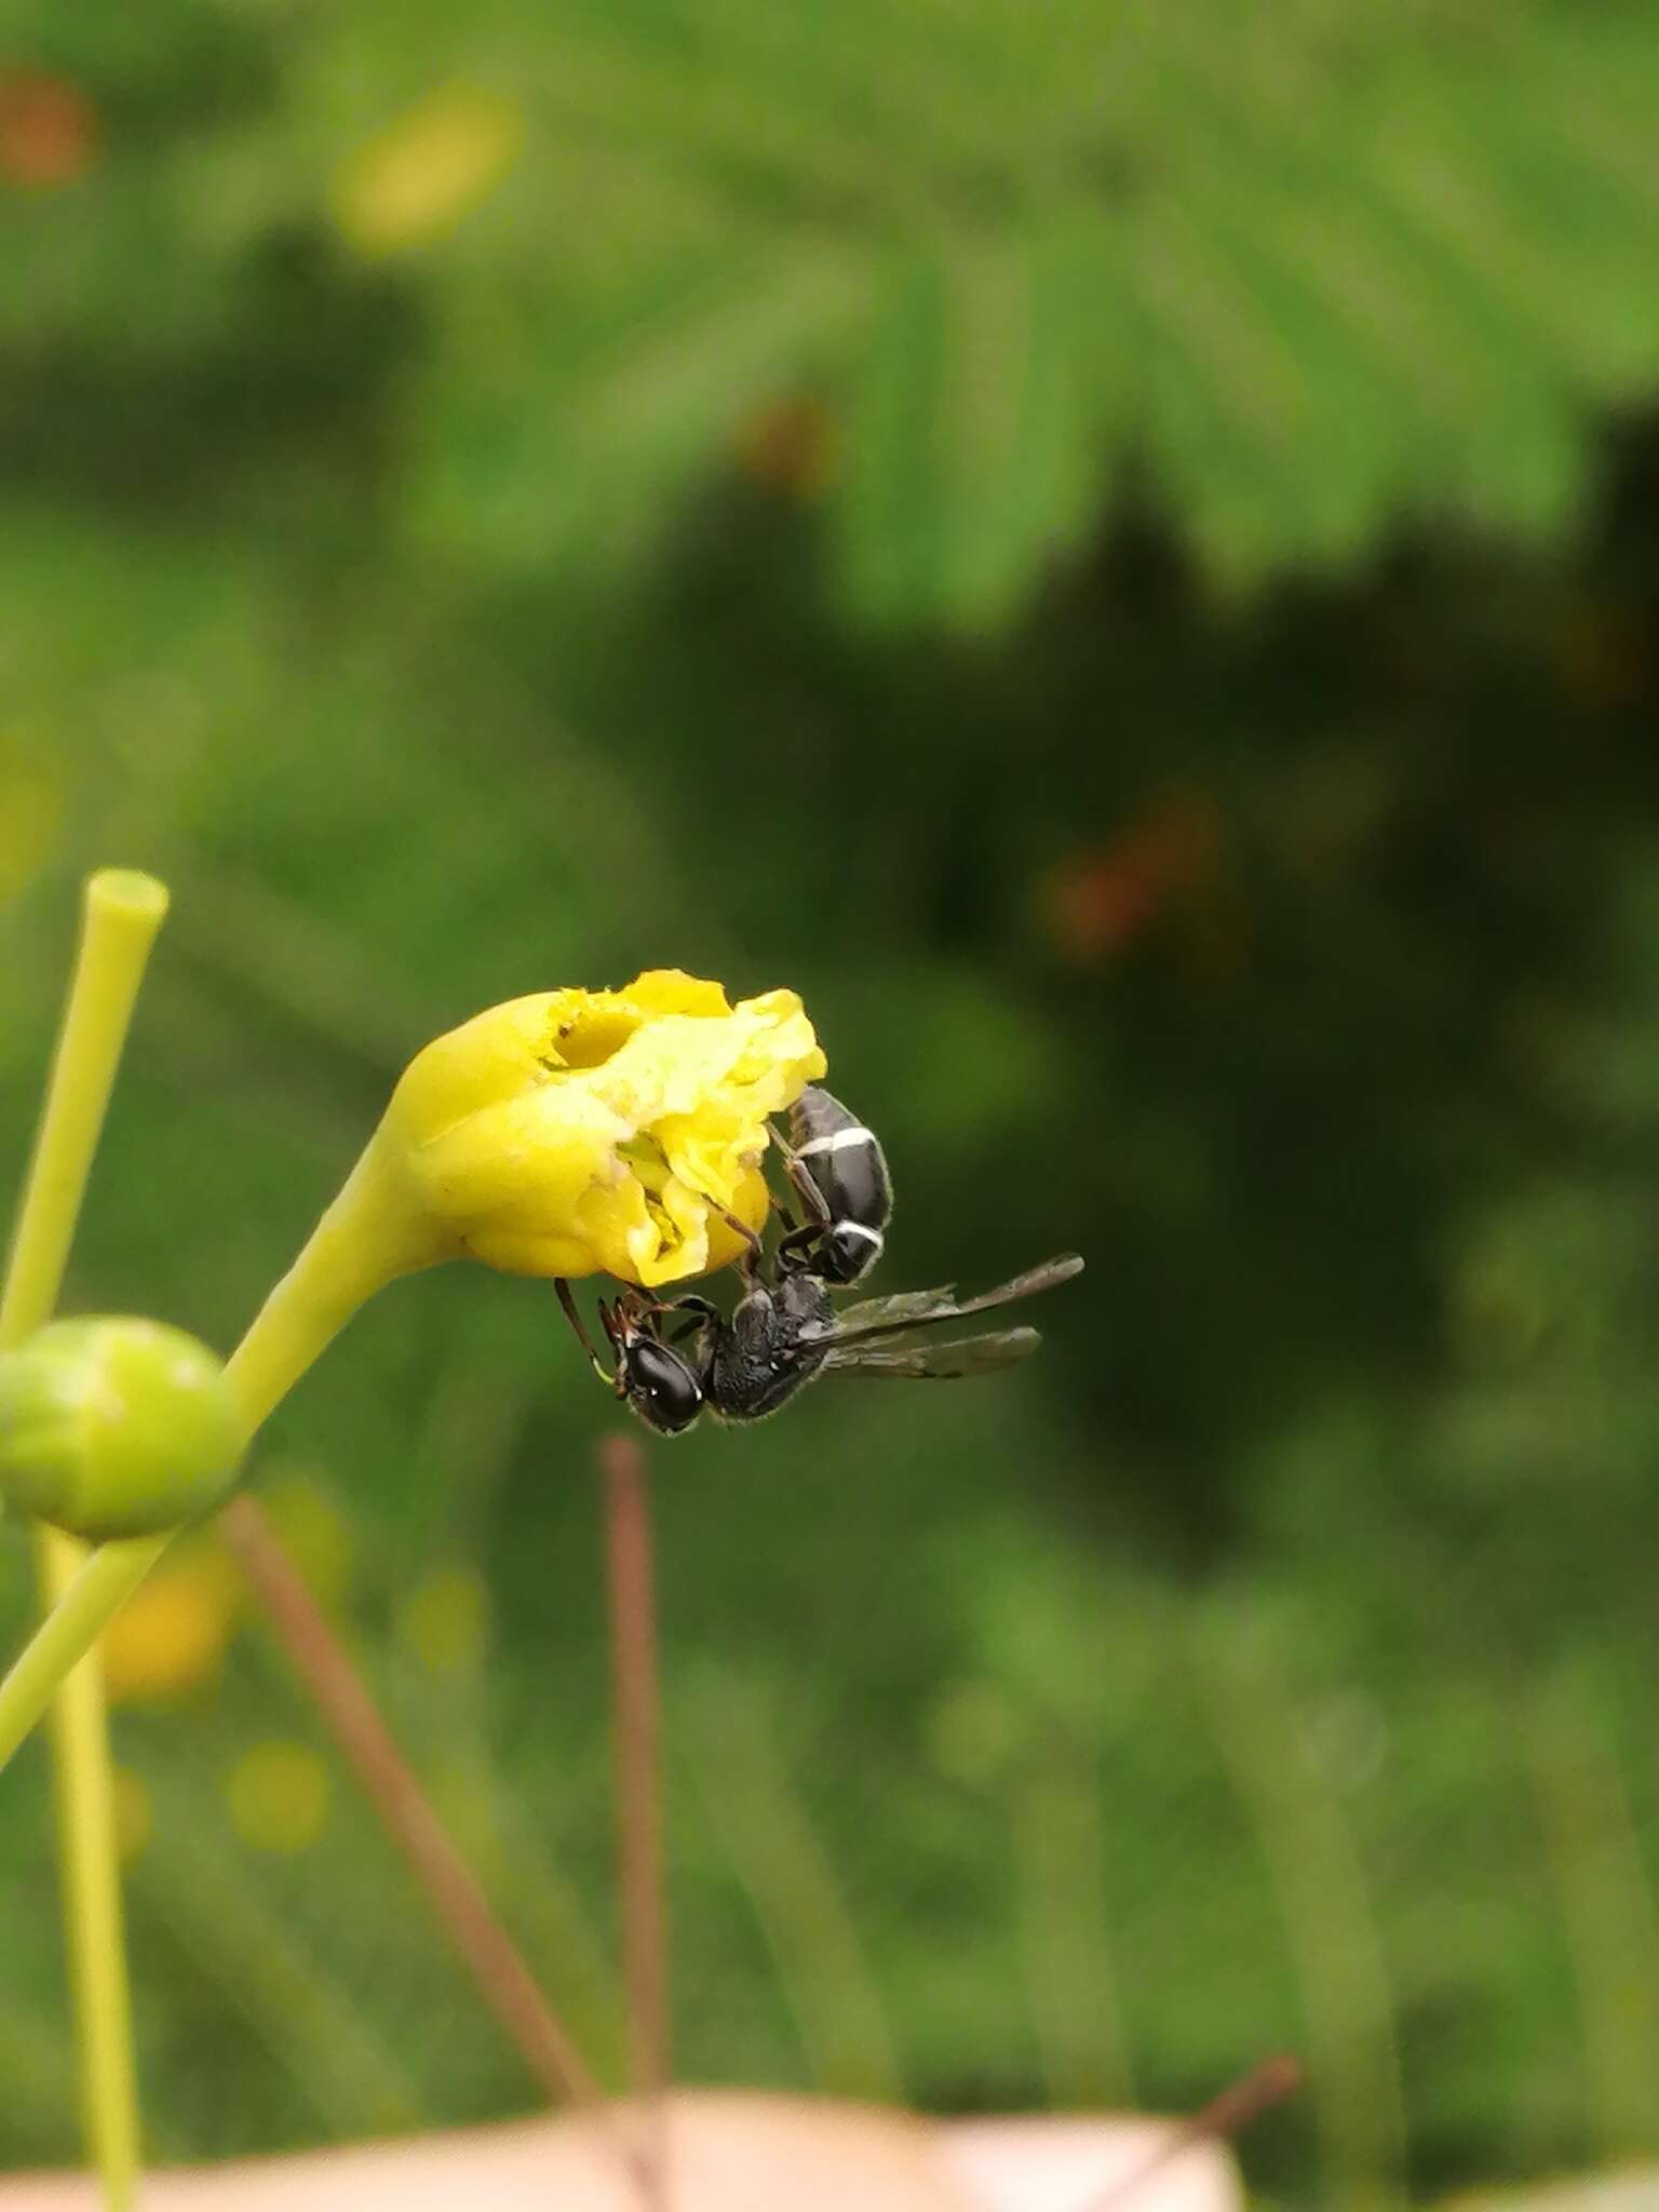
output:
POLYGON ((653 969, 622 991, 540 991, 438 1037, 392 1095, 376 1148, 434 1259, 509 1274, 675 1283, 761 1228, 768 1115, 825 1062, 794 991, 730 1006, 653 969))

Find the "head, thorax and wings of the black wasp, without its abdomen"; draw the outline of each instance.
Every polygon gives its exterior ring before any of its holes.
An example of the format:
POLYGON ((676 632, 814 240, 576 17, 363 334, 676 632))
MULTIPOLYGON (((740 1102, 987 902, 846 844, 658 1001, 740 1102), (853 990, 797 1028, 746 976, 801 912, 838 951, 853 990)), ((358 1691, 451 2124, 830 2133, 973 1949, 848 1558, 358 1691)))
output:
POLYGON ((564 1312, 599 1376, 650 1429, 679 1436, 708 1409, 717 1420, 761 1420, 818 1374, 902 1376, 927 1383, 989 1374, 1035 1352, 1035 1329, 984 1329, 978 1336, 936 1340, 927 1332, 971 1314, 1031 1298, 1082 1272, 1075 1252, 1029 1267, 978 1298, 958 1298, 956 1285, 900 1290, 836 1312, 830 1290, 812 1267, 781 1267, 776 1283, 750 1272, 748 1290, 730 1321, 708 1298, 659 1303, 624 1290, 599 1321, 615 1354, 606 1374, 582 1329, 566 1283, 557 1285, 564 1312), (672 1327, 672 1338, 661 1334, 672 1327))

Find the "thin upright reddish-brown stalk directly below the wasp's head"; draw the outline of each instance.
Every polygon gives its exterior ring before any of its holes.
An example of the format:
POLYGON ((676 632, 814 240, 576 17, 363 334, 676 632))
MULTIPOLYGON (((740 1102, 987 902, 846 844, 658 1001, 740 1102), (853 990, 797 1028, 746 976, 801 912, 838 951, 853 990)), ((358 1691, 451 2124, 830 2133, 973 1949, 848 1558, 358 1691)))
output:
POLYGON ((599 1442, 611 1562, 611 1670, 617 1734, 617 1856, 633 2090, 646 2110, 648 2201, 668 2205, 668 1922, 661 1874, 657 1604, 646 1455, 633 1436, 599 1442))

